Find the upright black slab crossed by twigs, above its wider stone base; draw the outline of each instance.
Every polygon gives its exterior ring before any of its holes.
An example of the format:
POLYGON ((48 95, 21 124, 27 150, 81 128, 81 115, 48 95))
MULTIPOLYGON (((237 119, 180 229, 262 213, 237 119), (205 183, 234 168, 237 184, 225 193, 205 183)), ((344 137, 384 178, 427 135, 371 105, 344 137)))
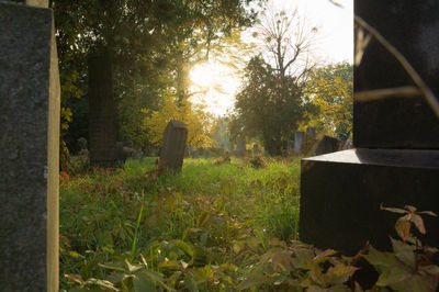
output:
MULTIPOLYGON (((394 45, 439 97, 439 1, 356 1, 356 14, 394 45)), ((410 77, 372 40, 354 70, 354 91, 413 86, 410 77)), ((439 149, 439 123, 424 97, 353 102, 353 145, 439 149)))

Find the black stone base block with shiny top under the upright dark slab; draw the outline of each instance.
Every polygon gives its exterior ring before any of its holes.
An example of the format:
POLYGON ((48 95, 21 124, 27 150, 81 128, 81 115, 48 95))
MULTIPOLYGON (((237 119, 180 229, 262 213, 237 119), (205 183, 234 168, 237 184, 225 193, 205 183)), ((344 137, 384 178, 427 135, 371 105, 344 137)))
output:
MULTIPOLYGON (((368 242, 389 250, 399 214, 380 204, 439 214, 439 150, 360 148, 302 159, 301 240, 345 255, 368 242)), ((425 224, 423 243, 439 246, 439 218, 425 224)))

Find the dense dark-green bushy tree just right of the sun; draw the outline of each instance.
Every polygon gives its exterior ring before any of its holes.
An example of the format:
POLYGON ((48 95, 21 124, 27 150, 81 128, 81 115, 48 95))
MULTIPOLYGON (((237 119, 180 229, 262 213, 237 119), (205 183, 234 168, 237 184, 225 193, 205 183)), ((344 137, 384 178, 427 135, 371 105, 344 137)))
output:
POLYGON ((254 57, 236 96, 235 111, 230 123, 235 137, 258 137, 270 155, 280 155, 281 142, 293 135, 303 115, 301 90, 294 78, 280 78, 260 56, 254 57))

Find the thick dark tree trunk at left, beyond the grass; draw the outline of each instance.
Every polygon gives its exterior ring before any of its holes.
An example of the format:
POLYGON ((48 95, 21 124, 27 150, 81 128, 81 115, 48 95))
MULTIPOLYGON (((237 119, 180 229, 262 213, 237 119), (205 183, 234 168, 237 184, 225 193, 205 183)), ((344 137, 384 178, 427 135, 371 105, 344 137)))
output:
POLYGON ((88 58, 90 165, 114 167, 117 161, 116 104, 113 68, 108 49, 98 49, 88 58))

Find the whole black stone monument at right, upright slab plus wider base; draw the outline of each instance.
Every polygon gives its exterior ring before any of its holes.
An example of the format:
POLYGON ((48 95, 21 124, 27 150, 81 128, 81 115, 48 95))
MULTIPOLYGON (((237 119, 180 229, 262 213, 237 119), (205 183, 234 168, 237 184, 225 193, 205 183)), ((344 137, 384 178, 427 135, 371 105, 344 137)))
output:
MULTIPOLYGON (((356 14, 408 59, 439 96, 439 1, 356 0, 356 14)), ((358 44, 356 44, 358 45, 358 44)), ((354 70, 354 91, 413 85, 375 40, 354 70)), ((302 160, 300 235, 320 248, 354 254, 368 240, 390 249, 397 215, 380 204, 439 213, 439 120, 423 97, 353 101, 359 147, 302 160)), ((425 243, 439 246, 439 220, 425 243)))

